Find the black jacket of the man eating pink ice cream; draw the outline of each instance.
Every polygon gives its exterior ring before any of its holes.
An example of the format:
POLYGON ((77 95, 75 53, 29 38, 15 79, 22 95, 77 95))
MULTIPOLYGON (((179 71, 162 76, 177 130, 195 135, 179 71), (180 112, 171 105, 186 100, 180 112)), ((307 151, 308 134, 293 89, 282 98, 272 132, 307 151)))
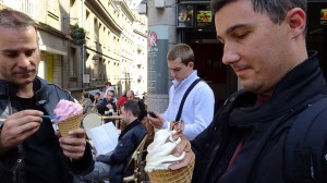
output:
MULTIPOLYGON (((0 117, 20 111, 15 99, 17 86, 0 81, 0 117)), ((36 108, 45 114, 52 114, 60 99, 72 100, 70 94, 56 85, 36 77, 34 81, 36 108)), ((2 122, 1 122, 2 123, 2 122)), ((40 129, 23 145, 0 157, 1 182, 62 182, 73 181, 73 173, 85 174, 92 171, 94 161, 89 145, 82 159, 71 162, 62 152, 59 139, 50 121, 44 120, 40 129)))

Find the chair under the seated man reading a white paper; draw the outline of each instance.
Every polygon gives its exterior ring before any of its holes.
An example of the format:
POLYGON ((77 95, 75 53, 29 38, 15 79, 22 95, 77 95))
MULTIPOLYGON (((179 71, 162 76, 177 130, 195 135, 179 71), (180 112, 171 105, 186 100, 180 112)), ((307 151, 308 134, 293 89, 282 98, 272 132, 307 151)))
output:
POLYGON ((146 139, 147 139, 147 134, 143 137, 140 145, 134 150, 128 166, 124 169, 124 173, 125 173, 128 168, 134 161, 134 174, 132 174, 130 176, 124 176, 123 182, 133 182, 134 181, 137 183, 137 179, 138 179, 138 175, 141 174, 141 170, 142 170, 141 168, 142 168, 142 166, 144 166, 143 164, 143 155, 146 151, 146 149, 144 149, 146 139))

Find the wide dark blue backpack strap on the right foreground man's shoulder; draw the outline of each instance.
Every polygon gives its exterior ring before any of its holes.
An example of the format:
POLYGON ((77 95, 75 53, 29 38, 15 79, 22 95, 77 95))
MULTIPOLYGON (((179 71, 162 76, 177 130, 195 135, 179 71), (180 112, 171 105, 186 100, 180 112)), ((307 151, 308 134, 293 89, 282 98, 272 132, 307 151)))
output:
POLYGON ((322 159, 327 137, 327 119, 322 113, 326 110, 327 97, 308 105, 289 130, 284 146, 287 182, 323 182, 326 176, 323 173, 326 159, 322 159))

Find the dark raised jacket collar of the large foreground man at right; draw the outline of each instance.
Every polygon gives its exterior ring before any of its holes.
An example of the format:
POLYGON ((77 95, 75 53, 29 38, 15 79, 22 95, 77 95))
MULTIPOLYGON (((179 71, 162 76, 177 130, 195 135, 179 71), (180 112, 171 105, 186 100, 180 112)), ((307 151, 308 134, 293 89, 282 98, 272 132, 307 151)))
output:
POLYGON ((245 125, 276 119, 300 106, 310 105, 315 96, 325 95, 326 82, 319 69, 317 52, 291 70, 276 86, 271 99, 254 106, 256 94, 244 93, 234 102, 230 125, 245 125))

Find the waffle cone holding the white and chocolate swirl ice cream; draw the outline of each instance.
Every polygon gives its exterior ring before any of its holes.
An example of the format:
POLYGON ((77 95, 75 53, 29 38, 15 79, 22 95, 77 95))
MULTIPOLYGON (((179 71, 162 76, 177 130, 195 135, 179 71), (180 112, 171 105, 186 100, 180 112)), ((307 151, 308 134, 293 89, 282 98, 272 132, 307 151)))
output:
POLYGON ((190 183, 192 181, 194 160, 178 170, 153 170, 148 172, 152 183, 190 183))

